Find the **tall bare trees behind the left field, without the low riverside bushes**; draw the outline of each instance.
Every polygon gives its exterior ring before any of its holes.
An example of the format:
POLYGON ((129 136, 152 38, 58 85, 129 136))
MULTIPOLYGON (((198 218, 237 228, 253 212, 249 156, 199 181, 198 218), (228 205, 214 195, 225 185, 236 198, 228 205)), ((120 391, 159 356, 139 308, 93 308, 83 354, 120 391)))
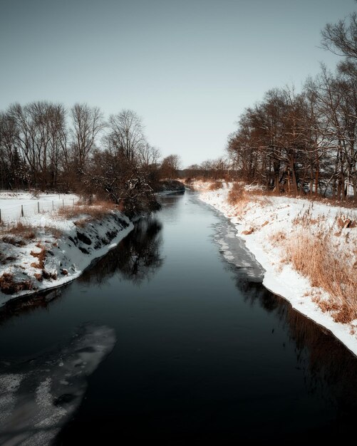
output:
POLYGON ((16 103, 0 113, 1 186, 68 189, 81 173, 99 173, 103 157, 120 157, 131 168, 155 164, 160 155, 145 139, 140 118, 131 110, 105 122, 98 107, 76 104, 66 112, 61 104, 16 103), (88 171, 88 172, 87 172, 88 171))

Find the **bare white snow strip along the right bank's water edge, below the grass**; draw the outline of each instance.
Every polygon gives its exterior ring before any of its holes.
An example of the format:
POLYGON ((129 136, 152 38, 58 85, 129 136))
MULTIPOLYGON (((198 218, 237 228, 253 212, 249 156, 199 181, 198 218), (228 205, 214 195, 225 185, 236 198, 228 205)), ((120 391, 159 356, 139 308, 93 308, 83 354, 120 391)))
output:
MULTIPOLYGON (((301 276, 301 274, 295 271, 289 264, 279 265, 279 267, 277 267, 281 253, 279 253, 279 249, 276 249, 269 244, 267 234, 280 229, 281 221, 279 221, 279 219, 271 219, 270 212, 275 211, 277 213, 281 211, 284 214, 286 212, 285 208, 288 206, 288 212, 294 214, 294 204, 299 200, 290 199, 290 205, 289 203, 283 204, 283 202, 289 200, 288 198, 285 198, 284 200, 277 199, 276 202, 280 201, 280 205, 275 205, 276 209, 274 209, 274 206, 269 207, 269 214, 266 212, 267 209, 264 210, 262 207, 260 208, 261 211, 259 211, 259 205, 257 205, 257 203, 249 203, 247 207, 248 209, 249 207, 251 208, 248 215, 235 215, 234 208, 227 202, 227 188, 215 191, 199 190, 198 192, 198 197, 203 202, 210 204, 214 209, 222 212, 224 217, 227 217, 234 224, 234 227, 237 230, 236 236, 244 240, 247 249, 255 256, 259 264, 261 264, 266 271, 263 279, 264 286, 269 289, 269 291, 278 294, 289 301, 296 311, 299 311, 299 313, 302 313, 320 326, 331 331, 333 336, 357 356, 357 321, 355 320, 351 323, 338 323, 333 321, 330 313, 321 311, 321 308, 311 300, 316 289, 311 286, 309 279, 301 276), (250 225, 253 220, 262 225, 261 229, 250 234, 243 234, 242 232, 244 232, 244 229, 247 230, 247 228, 251 227, 250 225), (269 220, 269 224, 266 223, 267 220, 269 220)), ((301 206, 304 206, 304 201, 306 200, 300 200, 301 206)), ((322 207, 326 205, 321 204, 320 206, 322 207)), ((296 213, 297 212, 299 212, 299 209, 297 209, 296 205, 296 213)), ((284 222, 284 217, 282 217, 281 220, 283 221, 283 224, 286 223, 284 222)), ((319 289, 319 292, 324 291, 319 289)))

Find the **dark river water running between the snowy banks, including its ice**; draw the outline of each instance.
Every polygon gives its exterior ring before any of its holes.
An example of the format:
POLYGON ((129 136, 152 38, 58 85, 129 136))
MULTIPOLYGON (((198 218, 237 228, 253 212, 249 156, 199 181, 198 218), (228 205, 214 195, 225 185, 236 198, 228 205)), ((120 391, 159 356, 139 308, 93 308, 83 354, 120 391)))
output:
POLYGON ((0 443, 355 437, 356 358, 262 287, 219 214, 163 202, 81 279, 1 312, 0 443))

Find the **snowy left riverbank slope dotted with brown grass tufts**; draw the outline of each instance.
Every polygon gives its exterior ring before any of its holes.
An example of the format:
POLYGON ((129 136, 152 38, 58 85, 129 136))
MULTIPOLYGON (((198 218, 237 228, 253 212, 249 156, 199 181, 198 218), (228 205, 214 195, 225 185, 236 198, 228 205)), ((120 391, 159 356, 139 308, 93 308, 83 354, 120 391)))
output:
POLYGON ((77 205, 20 219, 0 233, 0 305, 77 279, 133 229, 108 204, 77 205))

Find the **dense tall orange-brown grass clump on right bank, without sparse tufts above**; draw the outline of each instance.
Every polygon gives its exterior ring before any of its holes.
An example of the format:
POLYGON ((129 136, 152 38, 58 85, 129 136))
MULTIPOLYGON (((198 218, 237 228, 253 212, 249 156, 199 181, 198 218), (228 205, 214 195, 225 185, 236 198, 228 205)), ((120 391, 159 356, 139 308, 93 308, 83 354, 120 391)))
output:
MULTIPOLYGON (((276 236, 281 237, 281 236, 276 236)), ((316 298, 322 311, 331 311, 336 322, 357 318, 357 266, 351 266, 351 254, 333 244, 331 232, 315 236, 300 233, 285 243, 286 259, 308 277, 312 286, 324 289, 330 299, 316 298)))

